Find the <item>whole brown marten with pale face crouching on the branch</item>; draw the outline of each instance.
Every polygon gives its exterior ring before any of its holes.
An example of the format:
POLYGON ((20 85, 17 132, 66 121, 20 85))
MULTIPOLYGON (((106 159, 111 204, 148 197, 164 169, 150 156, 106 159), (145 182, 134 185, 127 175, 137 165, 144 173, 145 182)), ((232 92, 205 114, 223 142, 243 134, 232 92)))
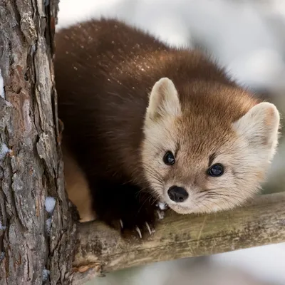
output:
POLYGON ((279 111, 202 51, 93 19, 58 31, 55 76, 66 187, 83 221, 95 213, 141 237, 157 202, 232 209, 266 178, 279 111))

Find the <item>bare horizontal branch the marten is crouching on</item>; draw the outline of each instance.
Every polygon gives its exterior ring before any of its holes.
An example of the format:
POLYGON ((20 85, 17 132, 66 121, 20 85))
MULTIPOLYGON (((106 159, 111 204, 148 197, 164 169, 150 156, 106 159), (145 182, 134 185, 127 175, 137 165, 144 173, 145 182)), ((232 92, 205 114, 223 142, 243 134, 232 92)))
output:
POLYGON ((78 225, 73 284, 131 266, 285 242, 285 192, 207 215, 166 215, 152 236, 123 239, 100 222, 78 225))

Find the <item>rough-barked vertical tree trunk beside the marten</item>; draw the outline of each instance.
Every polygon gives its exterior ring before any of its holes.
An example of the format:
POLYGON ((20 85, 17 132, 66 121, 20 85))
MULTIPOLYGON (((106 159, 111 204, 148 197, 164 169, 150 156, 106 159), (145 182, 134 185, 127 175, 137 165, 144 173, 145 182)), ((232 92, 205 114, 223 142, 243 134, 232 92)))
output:
POLYGON ((71 283, 76 226, 58 146, 57 11, 58 0, 0 0, 1 285, 71 283))

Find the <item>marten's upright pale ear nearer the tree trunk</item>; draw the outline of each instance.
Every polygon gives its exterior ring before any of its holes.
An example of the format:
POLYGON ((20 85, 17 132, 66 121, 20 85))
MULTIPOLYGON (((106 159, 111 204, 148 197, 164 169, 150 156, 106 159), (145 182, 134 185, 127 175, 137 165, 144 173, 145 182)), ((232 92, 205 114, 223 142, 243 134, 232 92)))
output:
POLYGON ((181 106, 177 90, 169 78, 161 78, 152 87, 146 118, 155 119, 165 115, 178 116, 181 106))

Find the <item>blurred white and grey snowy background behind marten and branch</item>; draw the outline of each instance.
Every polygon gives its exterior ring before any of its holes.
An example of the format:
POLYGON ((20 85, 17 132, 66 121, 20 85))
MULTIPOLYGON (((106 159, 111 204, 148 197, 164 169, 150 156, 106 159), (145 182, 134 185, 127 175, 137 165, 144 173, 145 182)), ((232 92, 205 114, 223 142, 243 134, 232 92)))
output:
MULTIPOLYGON (((285 0, 61 0, 59 7, 57 28, 117 17, 170 45, 200 46, 285 114, 285 0)), ((283 133, 264 193, 285 190, 283 133)), ((285 244, 149 264, 92 284, 285 285, 285 244)))

